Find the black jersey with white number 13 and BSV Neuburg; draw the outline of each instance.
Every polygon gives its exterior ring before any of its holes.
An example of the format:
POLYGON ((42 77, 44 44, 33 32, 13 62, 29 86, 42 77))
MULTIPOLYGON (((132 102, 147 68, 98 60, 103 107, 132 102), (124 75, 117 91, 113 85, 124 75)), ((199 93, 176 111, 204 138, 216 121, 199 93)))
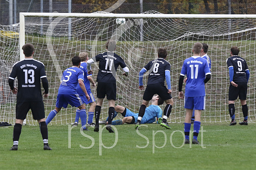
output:
POLYGON ((44 64, 24 59, 13 65, 9 79, 18 79, 17 101, 41 101, 41 78, 46 77, 44 64))

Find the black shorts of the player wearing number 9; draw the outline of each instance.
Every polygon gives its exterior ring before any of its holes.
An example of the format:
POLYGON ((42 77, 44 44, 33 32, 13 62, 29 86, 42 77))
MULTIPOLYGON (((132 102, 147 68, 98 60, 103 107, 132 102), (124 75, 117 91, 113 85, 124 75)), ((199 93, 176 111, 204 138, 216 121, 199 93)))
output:
POLYGON ((236 100, 239 96, 240 100, 246 100, 247 82, 235 82, 238 87, 229 85, 229 101, 236 100))

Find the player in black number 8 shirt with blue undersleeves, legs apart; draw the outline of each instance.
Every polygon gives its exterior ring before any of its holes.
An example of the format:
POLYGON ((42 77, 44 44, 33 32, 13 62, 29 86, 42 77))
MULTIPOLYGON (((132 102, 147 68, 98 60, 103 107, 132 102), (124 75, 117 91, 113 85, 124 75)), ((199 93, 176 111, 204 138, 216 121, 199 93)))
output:
MULTIPOLYGON (((142 117, 145 114, 146 107, 149 104, 149 101, 152 99, 154 94, 158 94, 159 97, 162 98, 162 100, 165 101, 166 107, 164 109, 164 115, 162 117, 161 126, 164 126, 166 129, 171 129, 171 127, 168 125, 167 118, 171 114, 172 105, 174 104, 174 101, 172 100, 172 90, 171 90, 171 65, 168 61, 166 61, 167 51, 165 48, 159 48, 158 49, 158 59, 155 59, 151 62, 149 62, 145 67, 141 69, 139 72, 139 89, 143 90, 143 75, 146 71, 149 71, 148 75, 148 84, 146 86, 144 95, 143 95, 143 101, 142 105, 139 108, 139 115, 138 120, 135 125, 135 129, 139 129, 139 126, 141 124, 142 117), (168 89, 165 87, 165 81, 168 89)), ((161 119, 161 118, 159 118, 161 119)))

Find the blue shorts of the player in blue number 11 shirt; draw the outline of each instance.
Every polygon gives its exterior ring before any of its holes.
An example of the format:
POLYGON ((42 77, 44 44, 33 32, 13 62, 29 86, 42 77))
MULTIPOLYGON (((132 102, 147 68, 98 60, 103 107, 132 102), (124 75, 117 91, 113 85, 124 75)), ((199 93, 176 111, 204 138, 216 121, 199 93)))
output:
POLYGON ((185 109, 205 110, 205 96, 200 97, 186 97, 185 96, 185 109))

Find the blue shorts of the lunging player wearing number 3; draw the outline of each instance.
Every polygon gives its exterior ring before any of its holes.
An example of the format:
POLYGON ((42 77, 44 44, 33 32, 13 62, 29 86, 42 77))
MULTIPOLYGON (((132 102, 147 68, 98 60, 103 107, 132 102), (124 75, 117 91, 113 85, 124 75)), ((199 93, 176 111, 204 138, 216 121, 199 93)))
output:
POLYGON ((56 107, 67 108, 68 104, 70 104, 73 107, 79 107, 82 104, 84 104, 84 102, 78 94, 58 94, 56 107))

